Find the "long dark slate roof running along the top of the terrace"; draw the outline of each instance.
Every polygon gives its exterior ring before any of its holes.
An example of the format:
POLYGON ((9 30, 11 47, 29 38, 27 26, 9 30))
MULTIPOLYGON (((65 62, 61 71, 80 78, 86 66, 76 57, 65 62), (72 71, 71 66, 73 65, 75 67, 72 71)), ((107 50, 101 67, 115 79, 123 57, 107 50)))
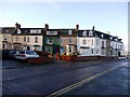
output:
MULTIPOLYGON (((15 29, 15 27, 0 27, 0 29, 2 29, 2 33, 10 33, 10 34, 16 34, 16 36, 43 36, 46 34, 46 30, 44 28, 21 28, 21 33, 17 33, 17 30, 15 29), (40 29, 41 33, 30 33, 30 30, 34 29, 40 29)), ((66 28, 66 29, 48 29, 47 31, 57 31, 57 36, 78 36, 78 37, 82 37, 82 32, 84 30, 76 30, 75 28, 66 28), (73 34, 68 34, 68 31, 72 30, 73 34)), ((113 37, 112 41, 116 41, 115 39, 117 37, 98 31, 98 30, 92 30, 92 29, 87 29, 87 37, 99 37, 100 39, 107 39, 110 40, 110 37, 113 37), (89 32, 93 31, 93 36, 89 36, 89 32), (102 37, 103 34, 103 37, 102 37)), ((117 38, 118 39, 118 38, 117 38)), ((118 39, 117 42, 121 42, 121 39, 118 39)), ((122 43, 122 42, 121 42, 122 43)))

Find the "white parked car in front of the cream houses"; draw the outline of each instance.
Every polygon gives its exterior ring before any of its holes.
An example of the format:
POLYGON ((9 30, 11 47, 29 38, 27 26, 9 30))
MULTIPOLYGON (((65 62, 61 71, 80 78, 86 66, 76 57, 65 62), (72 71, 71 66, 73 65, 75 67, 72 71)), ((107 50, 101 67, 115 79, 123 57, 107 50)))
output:
POLYGON ((28 59, 38 57, 40 56, 34 51, 20 51, 18 54, 16 54, 17 59, 28 59))

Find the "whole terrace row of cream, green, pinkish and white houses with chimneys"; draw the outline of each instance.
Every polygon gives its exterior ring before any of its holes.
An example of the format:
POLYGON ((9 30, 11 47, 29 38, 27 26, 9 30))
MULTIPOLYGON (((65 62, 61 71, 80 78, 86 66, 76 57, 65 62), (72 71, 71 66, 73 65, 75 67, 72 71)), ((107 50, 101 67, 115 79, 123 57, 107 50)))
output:
POLYGON ((94 29, 80 30, 79 25, 68 29, 3 27, 0 29, 0 50, 46 51, 52 55, 120 56, 123 43, 118 37, 94 29))

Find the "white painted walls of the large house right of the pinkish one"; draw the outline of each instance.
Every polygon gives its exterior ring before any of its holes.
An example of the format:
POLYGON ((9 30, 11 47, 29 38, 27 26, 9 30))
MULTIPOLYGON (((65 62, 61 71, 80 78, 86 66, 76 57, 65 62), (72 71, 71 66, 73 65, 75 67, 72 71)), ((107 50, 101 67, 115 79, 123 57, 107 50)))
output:
POLYGON ((77 51, 80 53, 79 56, 98 56, 106 55, 106 50, 104 48, 104 54, 102 54, 102 41, 104 41, 104 47, 106 47, 106 40, 100 38, 77 38, 77 51), (82 41, 86 40, 87 44, 84 45, 82 41), (93 41, 93 43, 92 43, 93 41), (80 48, 80 46, 88 46, 89 48, 80 48), (93 54, 92 54, 93 48, 93 54))

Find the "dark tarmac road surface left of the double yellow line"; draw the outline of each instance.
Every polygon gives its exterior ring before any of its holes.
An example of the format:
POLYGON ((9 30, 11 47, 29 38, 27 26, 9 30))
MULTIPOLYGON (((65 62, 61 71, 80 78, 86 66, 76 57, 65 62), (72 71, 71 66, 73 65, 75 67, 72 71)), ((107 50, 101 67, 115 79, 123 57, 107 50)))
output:
POLYGON ((126 59, 80 61, 1 70, 2 94, 48 96, 83 79, 127 63, 126 59))

